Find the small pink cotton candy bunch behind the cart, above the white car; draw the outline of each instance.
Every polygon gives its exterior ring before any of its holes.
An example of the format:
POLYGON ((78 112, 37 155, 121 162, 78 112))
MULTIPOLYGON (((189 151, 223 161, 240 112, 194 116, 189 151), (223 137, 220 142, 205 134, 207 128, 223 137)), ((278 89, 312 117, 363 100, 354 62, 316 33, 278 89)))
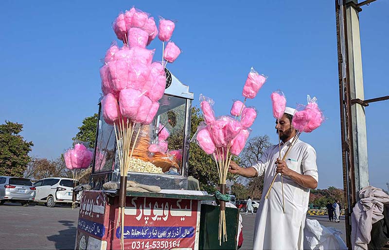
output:
MULTIPOLYGON (((71 170, 73 183, 76 184, 78 174, 81 169, 87 169, 93 159, 93 152, 87 148, 83 142, 77 141, 73 148, 66 150, 64 153, 66 168, 71 170)), ((75 197, 73 195, 72 208, 75 208, 75 197)))

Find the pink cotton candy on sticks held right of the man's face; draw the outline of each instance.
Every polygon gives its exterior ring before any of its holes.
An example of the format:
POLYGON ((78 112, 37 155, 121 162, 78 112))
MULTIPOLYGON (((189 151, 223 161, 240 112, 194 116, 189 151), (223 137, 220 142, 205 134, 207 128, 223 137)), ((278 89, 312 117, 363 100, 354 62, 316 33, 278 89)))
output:
MULTIPOLYGON (((292 125, 293 128, 297 130, 296 135, 292 139, 292 143, 283 155, 282 160, 284 161, 290 152, 290 150, 295 145, 296 141, 299 139, 301 133, 311 133, 315 129, 317 129, 325 120, 323 112, 318 107, 318 99, 316 97, 311 98, 311 96, 307 96, 308 104, 298 105, 297 112, 293 115, 292 125)), ((274 175, 273 180, 270 184, 269 190, 266 192, 265 198, 267 199, 269 193, 273 187, 274 181, 277 178, 277 174, 274 175)))

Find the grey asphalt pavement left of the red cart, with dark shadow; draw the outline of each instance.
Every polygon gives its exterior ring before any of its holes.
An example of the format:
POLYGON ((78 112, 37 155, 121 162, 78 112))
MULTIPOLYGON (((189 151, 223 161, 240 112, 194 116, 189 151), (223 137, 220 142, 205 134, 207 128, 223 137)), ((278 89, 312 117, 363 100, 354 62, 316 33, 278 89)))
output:
POLYGON ((5 203, 0 206, 1 249, 74 249, 78 211, 5 203))

